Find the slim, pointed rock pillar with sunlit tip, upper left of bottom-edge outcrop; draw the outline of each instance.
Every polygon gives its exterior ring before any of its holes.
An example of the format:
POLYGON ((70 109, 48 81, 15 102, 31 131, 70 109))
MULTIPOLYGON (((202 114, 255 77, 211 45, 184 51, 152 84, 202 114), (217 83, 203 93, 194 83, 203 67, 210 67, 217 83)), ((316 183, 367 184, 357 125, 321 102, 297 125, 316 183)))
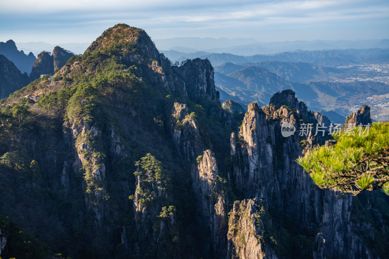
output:
POLYGON ((226 254, 227 212, 223 179, 218 176, 216 159, 211 150, 204 151, 192 169, 193 190, 197 196, 202 225, 211 230, 211 248, 216 258, 226 254))

